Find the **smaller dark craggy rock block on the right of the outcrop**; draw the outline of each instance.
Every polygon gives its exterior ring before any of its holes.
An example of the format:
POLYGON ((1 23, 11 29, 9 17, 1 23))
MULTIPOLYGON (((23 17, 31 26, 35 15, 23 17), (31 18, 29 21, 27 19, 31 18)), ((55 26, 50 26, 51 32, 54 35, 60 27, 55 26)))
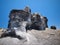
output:
POLYGON ((32 18, 32 29, 45 30, 47 26, 48 19, 46 17, 40 16, 39 14, 33 14, 32 18))

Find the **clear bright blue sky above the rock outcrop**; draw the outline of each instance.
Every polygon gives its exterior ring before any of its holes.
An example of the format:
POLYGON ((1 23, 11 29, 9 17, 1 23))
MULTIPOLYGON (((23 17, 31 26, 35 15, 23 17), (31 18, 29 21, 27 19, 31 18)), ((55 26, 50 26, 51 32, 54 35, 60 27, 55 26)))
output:
POLYGON ((0 0, 0 28, 7 28, 8 16, 12 9, 24 9, 29 6, 32 12, 38 12, 48 18, 48 26, 60 29, 60 0, 0 0))

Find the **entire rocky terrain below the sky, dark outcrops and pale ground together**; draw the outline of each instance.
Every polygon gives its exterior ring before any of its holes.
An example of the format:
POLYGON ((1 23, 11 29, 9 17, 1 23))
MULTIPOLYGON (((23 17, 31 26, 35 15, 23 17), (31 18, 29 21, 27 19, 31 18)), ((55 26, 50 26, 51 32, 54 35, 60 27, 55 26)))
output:
POLYGON ((29 7, 13 9, 8 29, 0 29, 0 45, 60 45, 60 30, 48 29, 47 22, 47 17, 32 14, 29 7))

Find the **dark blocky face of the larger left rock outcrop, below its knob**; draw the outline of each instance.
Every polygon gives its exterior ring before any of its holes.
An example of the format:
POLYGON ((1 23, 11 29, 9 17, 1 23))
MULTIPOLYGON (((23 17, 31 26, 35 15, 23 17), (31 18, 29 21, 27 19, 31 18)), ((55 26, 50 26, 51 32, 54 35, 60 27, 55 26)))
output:
POLYGON ((29 13, 26 13, 23 10, 12 10, 9 16, 8 28, 19 27, 19 22, 28 21, 29 13))

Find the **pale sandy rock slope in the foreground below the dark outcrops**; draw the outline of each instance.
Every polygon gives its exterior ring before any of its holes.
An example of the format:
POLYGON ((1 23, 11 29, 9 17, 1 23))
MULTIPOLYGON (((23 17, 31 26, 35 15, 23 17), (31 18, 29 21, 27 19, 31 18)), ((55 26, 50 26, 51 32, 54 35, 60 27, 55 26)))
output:
POLYGON ((0 45, 60 45, 60 30, 31 30, 23 35, 26 36, 26 39, 1 38, 0 45))

